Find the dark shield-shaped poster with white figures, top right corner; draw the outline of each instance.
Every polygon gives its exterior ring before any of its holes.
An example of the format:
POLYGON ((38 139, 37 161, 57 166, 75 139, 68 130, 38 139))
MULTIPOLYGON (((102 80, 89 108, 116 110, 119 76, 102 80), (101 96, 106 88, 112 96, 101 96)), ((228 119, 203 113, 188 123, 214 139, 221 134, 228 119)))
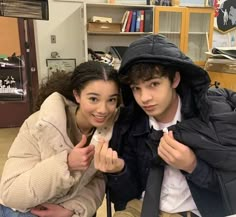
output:
POLYGON ((236 29, 236 0, 214 0, 214 27, 221 33, 236 29))

